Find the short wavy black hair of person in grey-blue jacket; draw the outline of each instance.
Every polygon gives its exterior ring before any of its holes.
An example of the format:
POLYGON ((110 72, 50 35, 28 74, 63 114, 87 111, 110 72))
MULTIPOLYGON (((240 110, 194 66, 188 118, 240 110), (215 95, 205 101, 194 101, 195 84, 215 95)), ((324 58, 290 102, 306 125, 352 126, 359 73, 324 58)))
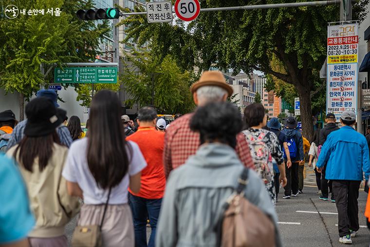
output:
POLYGON ((199 107, 190 120, 190 129, 200 133, 201 144, 215 140, 236 147, 242 130, 241 114, 230 102, 212 102, 199 107))

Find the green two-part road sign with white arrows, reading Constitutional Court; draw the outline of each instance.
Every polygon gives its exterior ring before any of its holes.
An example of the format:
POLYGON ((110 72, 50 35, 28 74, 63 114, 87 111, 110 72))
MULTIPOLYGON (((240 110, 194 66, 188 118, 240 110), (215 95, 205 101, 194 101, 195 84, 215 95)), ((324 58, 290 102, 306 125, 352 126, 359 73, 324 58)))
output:
POLYGON ((117 83, 116 67, 66 67, 54 69, 56 83, 117 83))

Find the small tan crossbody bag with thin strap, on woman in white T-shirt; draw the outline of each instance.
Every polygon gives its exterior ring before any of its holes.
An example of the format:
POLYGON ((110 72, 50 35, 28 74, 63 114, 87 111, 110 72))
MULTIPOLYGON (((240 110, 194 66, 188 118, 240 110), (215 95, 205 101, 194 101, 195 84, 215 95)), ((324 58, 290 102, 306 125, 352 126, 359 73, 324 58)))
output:
POLYGON ((103 247, 101 229, 103 227, 105 213, 107 211, 111 188, 109 188, 108 199, 104 206, 103 217, 100 225, 77 226, 74 229, 71 245, 72 247, 103 247))

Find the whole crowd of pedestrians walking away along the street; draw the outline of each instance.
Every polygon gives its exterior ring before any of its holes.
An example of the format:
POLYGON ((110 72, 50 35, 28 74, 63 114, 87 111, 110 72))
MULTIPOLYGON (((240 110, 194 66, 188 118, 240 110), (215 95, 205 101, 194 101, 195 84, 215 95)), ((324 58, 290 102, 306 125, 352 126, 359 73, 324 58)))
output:
POLYGON ((26 105, 26 120, 1 112, 0 245, 67 247, 64 228, 78 215, 73 247, 280 247, 279 189, 283 199, 303 193, 305 153, 319 199, 331 193, 337 207, 339 241, 351 243, 370 176, 370 137, 352 128, 354 112, 340 129, 329 113, 310 143, 295 117, 282 128, 261 104, 242 118, 220 72, 190 90, 197 108, 171 123, 151 106, 131 120, 108 90, 92 98, 85 128, 51 90, 26 105))

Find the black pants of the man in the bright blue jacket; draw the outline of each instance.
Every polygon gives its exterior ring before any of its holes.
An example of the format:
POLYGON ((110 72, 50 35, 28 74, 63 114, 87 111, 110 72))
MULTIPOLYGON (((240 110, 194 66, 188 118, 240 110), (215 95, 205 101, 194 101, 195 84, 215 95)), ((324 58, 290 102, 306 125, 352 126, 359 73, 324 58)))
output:
POLYGON ((350 234, 350 229, 354 231, 359 229, 357 199, 360 183, 361 181, 333 180, 339 237, 350 234))

